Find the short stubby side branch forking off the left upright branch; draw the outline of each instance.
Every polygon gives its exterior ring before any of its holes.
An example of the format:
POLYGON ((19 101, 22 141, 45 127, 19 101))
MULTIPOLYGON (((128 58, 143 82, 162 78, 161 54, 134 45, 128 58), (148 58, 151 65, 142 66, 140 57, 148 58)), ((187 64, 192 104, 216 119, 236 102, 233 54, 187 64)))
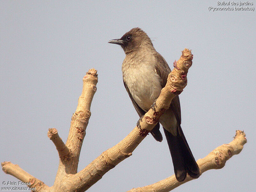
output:
POLYGON ((60 159, 68 158, 70 156, 69 149, 65 145, 65 143, 62 141, 58 134, 58 130, 55 128, 49 129, 47 136, 49 137, 50 140, 54 143, 56 146, 60 159))

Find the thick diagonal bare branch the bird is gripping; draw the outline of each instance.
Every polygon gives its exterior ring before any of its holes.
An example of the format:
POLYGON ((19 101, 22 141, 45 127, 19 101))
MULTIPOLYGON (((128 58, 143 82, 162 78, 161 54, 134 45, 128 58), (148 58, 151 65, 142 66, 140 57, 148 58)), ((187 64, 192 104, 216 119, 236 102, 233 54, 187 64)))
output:
POLYGON ((172 99, 180 94, 187 85, 188 69, 192 65, 193 55, 188 49, 182 51, 180 59, 174 62, 174 69, 169 74, 167 83, 156 100, 155 110, 152 108, 140 121, 140 128, 137 126, 114 147, 104 151, 100 156, 87 165, 82 171, 75 175, 69 175, 67 191, 85 191, 110 169, 132 155, 132 151, 148 135, 158 122, 160 116, 169 108, 172 99))

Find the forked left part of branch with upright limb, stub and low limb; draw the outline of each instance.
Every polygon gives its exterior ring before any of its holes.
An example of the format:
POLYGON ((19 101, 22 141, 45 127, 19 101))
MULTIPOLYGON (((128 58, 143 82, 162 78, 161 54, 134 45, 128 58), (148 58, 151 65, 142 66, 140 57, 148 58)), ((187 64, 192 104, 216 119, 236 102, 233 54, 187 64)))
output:
POLYGON ((78 99, 76 112, 72 116, 66 145, 59 137, 57 129, 49 129, 47 133, 50 140, 52 140, 56 146, 60 156, 59 168, 53 186, 48 187, 42 181, 34 178, 32 175, 22 170, 18 165, 14 165, 11 162, 2 163, 3 171, 5 173, 10 174, 23 182, 30 182, 28 187, 35 188, 35 190, 32 189, 33 191, 68 191, 66 190, 68 185, 63 178, 68 178, 69 175, 77 173, 77 165, 85 136, 85 130, 91 116, 90 107, 92 98, 97 90, 97 76, 97 70, 90 69, 83 78, 82 94, 78 99))

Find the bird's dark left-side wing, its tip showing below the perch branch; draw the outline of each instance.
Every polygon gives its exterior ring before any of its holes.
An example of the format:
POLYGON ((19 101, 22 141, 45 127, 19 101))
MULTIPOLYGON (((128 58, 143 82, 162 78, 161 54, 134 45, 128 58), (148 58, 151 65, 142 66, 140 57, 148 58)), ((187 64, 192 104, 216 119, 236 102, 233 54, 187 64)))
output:
MULTIPOLYGON (((137 111, 138 115, 141 117, 143 115, 145 115, 145 111, 139 107, 139 105, 135 102, 135 100, 132 98, 132 94, 128 88, 128 86, 125 83, 125 79, 123 77, 123 82, 124 82, 124 87, 126 89, 126 91, 128 92, 128 95, 130 97, 130 99, 132 100, 132 105, 134 106, 135 110, 137 111)), ((161 134, 161 132, 159 131, 160 128, 160 124, 159 122, 156 124, 156 126, 151 130, 151 134, 153 135, 153 137, 155 138, 155 140, 161 142, 163 140, 163 136, 161 134)))

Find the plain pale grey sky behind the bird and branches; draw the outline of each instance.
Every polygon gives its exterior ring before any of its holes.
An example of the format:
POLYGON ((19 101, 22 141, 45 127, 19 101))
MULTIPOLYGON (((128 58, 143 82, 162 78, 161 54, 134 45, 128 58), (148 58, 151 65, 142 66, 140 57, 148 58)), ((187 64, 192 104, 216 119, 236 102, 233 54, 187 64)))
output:
MULTIPOLYGON (((209 12, 208 6, 222 7, 217 1, 1 1, 1 162, 53 185, 59 157, 47 131, 57 128, 66 141, 90 68, 98 70, 99 83, 78 171, 122 140, 139 117, 123 85, 124 52, 107 42, 140 27, 171 68, 184 48, 192 49, 180 103, 195 158, 230 142, 237 129, 248 141, 223 169, 173 191, 255 191, 255 11, 209 12)), ((126 191, 172 174, 166 139, 148 135, 88 191, 126 191)), ((4 172, 0 178, 1 187, 18 181, 4 172)))

